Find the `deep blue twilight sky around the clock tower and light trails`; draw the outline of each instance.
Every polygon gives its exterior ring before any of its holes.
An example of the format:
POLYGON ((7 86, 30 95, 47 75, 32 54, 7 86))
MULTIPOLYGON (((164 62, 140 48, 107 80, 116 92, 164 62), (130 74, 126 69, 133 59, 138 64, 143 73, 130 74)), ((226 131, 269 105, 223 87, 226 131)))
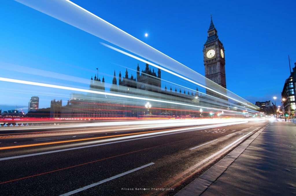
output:
MULTIPOLYGON (((73 2, 202 75, 202 46, 212 13, 225 47, 227 89, 254 104, 280 97, 289 76, 288 54, 291 67, 296 62, 296 1, 73 2)), ((106 54, 99 52, 97 38, 88 33, 15 1, 1 2, 0 17, 0 62, 88 79, 97 64, 104 64, 101 59, 106 54)), ((110 67, 100 71, 112 75, 110 67)), ((30 79, 8 70, 1 71, 0 77, 4 76, 30 79)), ((17 94, 3 92, 6 83, 1 85, 3 110, 7 110, 3 105, 27 107, 31 92, 15 98, 17 94)), ((44 98, 40 106, 49 107, 52 98, 44 98)))

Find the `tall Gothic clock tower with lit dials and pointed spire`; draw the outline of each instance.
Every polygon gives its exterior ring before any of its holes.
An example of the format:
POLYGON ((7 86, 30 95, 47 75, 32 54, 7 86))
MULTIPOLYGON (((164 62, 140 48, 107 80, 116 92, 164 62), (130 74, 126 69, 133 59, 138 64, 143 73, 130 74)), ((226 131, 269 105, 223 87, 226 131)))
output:
MULTIPOLYGON (((210 28, 207 31, 207 41, 203 47, 203 54, 205 77, 226 88, 224 47, 221 41, 218 39, 217 30, 213 24, 212 15, 210 28)), ((213 92, 207 92, 207 94, 213 94, 213 92)))

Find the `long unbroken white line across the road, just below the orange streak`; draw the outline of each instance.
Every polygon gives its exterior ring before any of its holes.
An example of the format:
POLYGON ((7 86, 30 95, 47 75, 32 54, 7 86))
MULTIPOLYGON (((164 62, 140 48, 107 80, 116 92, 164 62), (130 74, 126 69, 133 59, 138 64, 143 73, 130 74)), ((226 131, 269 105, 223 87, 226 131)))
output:
MULTIPOLYGON (((238 122, 238 123, 247 123, 248 121, 245 122, 238 122)), ((238 124, 235 123, 235 124, 238 124)), ((34 154, 28 154, 28 155, 19 155, 19 156, 13 156, 13 157, 5 157, 5 158, 0 158, 1 160, 9 160, 9 159, 16 159, 16 158, 23 158, 23 157, 31 157, 31 156, 36 156, 36 155, 44 155, 44 154, 50 154, 50 153, 55 153, 55 152, 63 152, 63 151, 68 151, 68 150, 76 150, 76 149, 81 149, 81 148, 89 148, 89 147, 96 147, 96 146, 102 146, 102 145, 107 145, 107 144, 115 144, 115 143, 120 143, 120 142, 128 142, 128 141, 133 141, 133 140, 138 140, 138 139, 146 139, 146 138, 152 138, 152 137, 158 137, 158 136, 164 136, 164 135, 170 135, 170 134, 177 134, 177 133, 185 133, 185 132, 189 132, 189 131, 197 131, 197 130, 201 130, 204 128, 209 128, 209 127, 221 127, 221 126, 227 126, 230 125, 230 123, 225 123, 225 124, 216 124, 216 125, 212 125, 212 126, 203 126, 200 128, 183 128, 182 130, 186 130, 186 131, 176 131, 176 130, 171 130, 171 131, 162 131, 161 133, 166 133, 166 134, 159 134, 160 132, 157 133, 150 133, 150 134, 141 134, 141 135, 135 135, 135 136, 126 136, 126 137, 117 137, 117 138, 112 138, 112 139, 103 139, 103 140, 99 140, 99 141, 93 141, 93 142, 87 142, 87 144, 89 143, 99 143, 99 142, 107 142, 107 143, 103 143, 103 144, 94 144, 94 145, 89 145, 89 146, 81 146, 81 147, 75 147, 75 148, 67 148, 67 149, 62 149, 62 150, 53 150, 53 151, 47 151, 47 152, 39 152, 39 153, 34 153, 34 154), (188 129, 193 129, 193 130, 188 130, 188 129), (173 133, 168 133, 168 132, 172 132, 172 131, 176 131, 173 133), (155 136, 147 136, 147 135, 151 135, 151 134, 159 134, 159 135, 155 135, 155 136), (133 138, 133 137, 139 137, 139 136, 147 136, 147 137, 140 137, 140 138, 135 138, 135 139, 126 139, 126 138, 133 138), (121 140, 121 139, 126 139, 126 140, 121 140), (114 140, 121 140, 121 141, 116 141, 116 142, 110 142, 110 141, 114 141, 114 140)), ((233 124, 231 124, 233 125, 233 124)), ((181 129, 178 129, 181 130, 181 129)), ((78 145, 84 145, 85 143, 80 143, 78 145)))

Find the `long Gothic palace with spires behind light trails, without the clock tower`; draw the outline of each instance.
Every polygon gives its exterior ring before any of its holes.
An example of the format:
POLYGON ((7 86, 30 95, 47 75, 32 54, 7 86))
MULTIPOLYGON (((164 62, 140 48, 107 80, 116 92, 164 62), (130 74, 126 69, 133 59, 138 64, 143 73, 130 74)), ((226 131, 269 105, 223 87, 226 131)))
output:
MULTIPOLYGON (((91 77, 90 90, 96 92, 105 92, 104 78, 102 82, 95 75, 91 77)), ((187 104, 200 103, 198 93, 187 92, 184 90, 177 91, 175 88, 172 91, 161 89, 161 71, 157 73, 154 69, 151 70, 146 64, 145 70, 140 72, 139 65, 137 66, 137 77, 131 74, 128 76, 126 70, 125 77, 122 78, 121 72, 118 79, 114 71, 110 93, 128 95, 135 97, 147 97, 159 100, 169 100, 174 102, 183 102, 187 104)), ((207 99, 207 101, 211 101, 207 99)), ((133 99, 126 97, 117 97, 100 93, 77 94, 72 93, 67 105, 62 106, 62 100, 51 101, 51 117, 52 118, 85 118, 85 119, 102 119, 102 118, 143 118, 148 115, 178 117, 185 115, 200 116, 199 108, 192 106, 174 105, 164 102, 151 102, 152 107, 147 111, 144 99, 133 99)))

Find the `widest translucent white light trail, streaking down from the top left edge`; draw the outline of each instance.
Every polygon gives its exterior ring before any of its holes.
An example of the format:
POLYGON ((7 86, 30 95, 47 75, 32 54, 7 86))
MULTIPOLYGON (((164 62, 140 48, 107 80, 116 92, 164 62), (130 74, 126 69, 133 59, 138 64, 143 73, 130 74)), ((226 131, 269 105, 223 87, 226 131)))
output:
MULTIPOLYGON (((254 109, 259 109, 255 105, 252 106, 250 102, 246 104, 246 100, 237 96, 236 94, 232 93, 231 91, 224 89, 223 87, 219 86, 218 84, 214 83, 213 81, 205 78, 204 76, 200 75, 199 73, 195 72, 194 70, 186 67, 185 65, 181 64, 180 62, 174 60, 173 58, 169 57, 168 55, 158 51, 157 49, 145 44, 144 42, 140 41, 139 39, 131 36, 130 34, 126 33, 125 31, 117 28, 116 26, 108 23, 107 21, 103 20, 102 18, 98 17, 97 15, 89 12, 88 10, 78 6, 77 4, 73 3, 69 0, 16 0, 28 7, 36 9, 40 12, 43 12, 49 16, 52 16, 58 20, 61 20, 69 25, 72 25, 76 28, 79 28, 85 32, 88 32, 94 36, 102 38, 105 41, 108 41, 116 46, 126 49, 127 51, 137 54, 140 57, 145 59, 150 59, 152 62, 165 66, 166 68, 173 70, 175 73, 179 73, 182 75, 186 75, 188 78, 194 78, 192 80, 198 81, 193 82, 199 86, 204 88, 205 84, 199 84, 200 81, 206 80, 211 85, 216 85, 217 88, 221 90, 226 90, 229 94, 233 94, 234 97, 229 97, 227 95, 223 95, 218 91, 214 91, 222 96, 226 96, 229 99, 235 100, 243 105, 247 105, 254 109), (88 21, 85 23, 85 21, 88 21), (189 76, 190 75, 190 76, 189 76), (242 100, 242 101, 238 101, 242 100)), ((158 68, 157 65, 153 65, 158 68)), ((161 69, 161 68, 160 68, 161 69)), ((186 78, 184 77, 186 80, 186 78)), ((192 80, 190 80, 192 82, 192 80)), ((207 85, 206 85, 207 86, 207 85)), ((208 88, 209 90, 210 89, 208 88)))

